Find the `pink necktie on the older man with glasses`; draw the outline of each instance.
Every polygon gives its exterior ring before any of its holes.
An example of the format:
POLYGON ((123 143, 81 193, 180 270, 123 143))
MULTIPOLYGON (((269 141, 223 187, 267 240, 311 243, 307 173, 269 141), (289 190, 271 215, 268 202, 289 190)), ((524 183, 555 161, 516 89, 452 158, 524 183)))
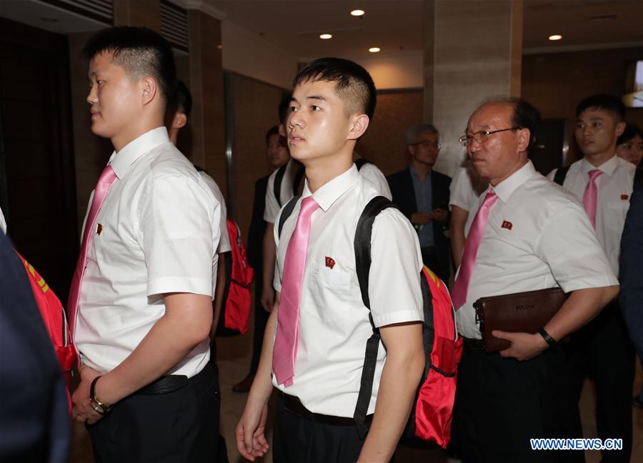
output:
POLYGON ((462 253, 462 264, 460 264, 460 271, 453 284, 451 297, 455 309, 459 309, 467 302, 467 291, 469 290, 469 281, 476 267, 476 256, 478 248, 482 241, 484 234, 484 226, 487 225, 489 218, 489 211, 498 199, 498 196, 491 190, 487 191, 487 196, 484 196, 484 201, 474 218, 467 235, 467 240, 464 242, 464 252, 462 253))

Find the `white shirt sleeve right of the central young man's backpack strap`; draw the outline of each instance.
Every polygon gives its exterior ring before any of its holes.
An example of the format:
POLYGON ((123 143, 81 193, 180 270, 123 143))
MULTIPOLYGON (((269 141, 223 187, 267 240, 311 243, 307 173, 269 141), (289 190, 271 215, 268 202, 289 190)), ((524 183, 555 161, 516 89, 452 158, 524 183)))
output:
POLYGON ((369 300, 376 327, 424 320, 417 233, 397 209, 385 209, 371 235, 369 300))

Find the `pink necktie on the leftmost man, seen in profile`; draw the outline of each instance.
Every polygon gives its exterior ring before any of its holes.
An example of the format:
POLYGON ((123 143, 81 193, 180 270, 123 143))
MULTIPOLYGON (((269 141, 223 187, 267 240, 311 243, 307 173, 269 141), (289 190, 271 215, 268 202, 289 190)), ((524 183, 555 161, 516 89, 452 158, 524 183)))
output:
POLYGON ((91 201, 91 207, 89 208, 89 214, 87 214, 87 220, 85 221, 85 229, 83 231, 83 241, 81 244, 80 254, 78 256, 78 262, 76 262, 76 272, 74 272, 74 278, 71 279, 71 288, 69 289, 69 299, 67 299, 67 317, 69 318, 69 328, 71 330, 71 339, 74 339, 74 329, 76 328, 76 309, 78 308, 78 297, 80 294, 81 281, 83 279, 83 274, 85 273, 85 267, 87 262, 87 251, 89 250, 89 244, 91 243, 91 237, 94 234, 96 216, 98 211, 101 209, 101 204, 107 196, 107 191, 109 191, 109 186, 116 179, 116 174, 114 174, 114 169, 111 169, 111 165, 107 164, 105 169, 103 169, 101 176, 99 176, 99 181, 96 183, 96 189, 94 189, 94 199, 91 201))

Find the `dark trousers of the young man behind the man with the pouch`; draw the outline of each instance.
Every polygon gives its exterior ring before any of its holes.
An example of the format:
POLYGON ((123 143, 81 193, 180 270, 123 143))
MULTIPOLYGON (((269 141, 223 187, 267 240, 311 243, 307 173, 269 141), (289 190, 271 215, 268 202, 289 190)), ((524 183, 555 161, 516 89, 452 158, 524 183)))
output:
MULTIPOLYGON (((632 454, 632 387, 634 347, 616 302, 572 336, 570 354, 572 400, 577 405, 585 378, 596 388, 596 422, 601 439, 623 439, 622 450, 602 452, 604 463, 629 463, 632 454)), ((575 424, 579 429, 580 422, 575 424)))

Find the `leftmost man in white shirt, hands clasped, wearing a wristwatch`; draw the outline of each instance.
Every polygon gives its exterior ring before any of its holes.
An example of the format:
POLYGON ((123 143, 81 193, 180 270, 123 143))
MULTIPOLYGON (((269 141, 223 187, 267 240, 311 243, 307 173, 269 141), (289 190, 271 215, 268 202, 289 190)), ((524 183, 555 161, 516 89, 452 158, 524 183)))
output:
POLYGON ((209 332, 221 209, 168 139, 174 57, 156 32, 89 39, 91 130, 114 145, 69 294, 81 355, 74 418, 100 462, 209 462, 218 389, 209 332))

